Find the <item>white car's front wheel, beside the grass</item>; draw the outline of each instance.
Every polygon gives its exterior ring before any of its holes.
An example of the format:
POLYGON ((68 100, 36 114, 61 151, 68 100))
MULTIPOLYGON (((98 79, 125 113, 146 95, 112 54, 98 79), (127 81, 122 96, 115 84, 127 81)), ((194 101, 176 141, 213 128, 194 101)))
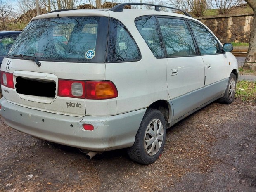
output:
POLYGON ((228 86, 225 90, 225 94, 223 97, 220 98, 220 103, 223 104, 230 104, 234 101, 235 99, 235 90, 236 90, 236 76, 234 73, 231 73, 229 80, 228 80, 228 86))

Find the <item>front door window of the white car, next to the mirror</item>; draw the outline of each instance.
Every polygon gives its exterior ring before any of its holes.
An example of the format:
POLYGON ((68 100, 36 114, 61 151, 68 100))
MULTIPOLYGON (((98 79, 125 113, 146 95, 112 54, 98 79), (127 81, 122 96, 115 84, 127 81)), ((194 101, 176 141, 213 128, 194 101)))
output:
POLYGON ((188 22, 192 28, 195 38, 197 39, 199 50, 202 55, 220 53, 218 41, 206 28, 195 22, 188 22))

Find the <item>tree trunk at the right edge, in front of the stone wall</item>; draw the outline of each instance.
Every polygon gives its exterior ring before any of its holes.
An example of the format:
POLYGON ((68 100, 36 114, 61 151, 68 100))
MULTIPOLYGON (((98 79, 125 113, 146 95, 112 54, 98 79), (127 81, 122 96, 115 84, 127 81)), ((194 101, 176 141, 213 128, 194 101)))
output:
POLYGON ((245 63, 244 66, 251 66, 251 69, 256 70, 256 0, 245 1, 248 3, 248 5, 250 5, 250 7, 254 11, 254 19, 251 28, 249 49, 245 61, 254 63, 245 63))

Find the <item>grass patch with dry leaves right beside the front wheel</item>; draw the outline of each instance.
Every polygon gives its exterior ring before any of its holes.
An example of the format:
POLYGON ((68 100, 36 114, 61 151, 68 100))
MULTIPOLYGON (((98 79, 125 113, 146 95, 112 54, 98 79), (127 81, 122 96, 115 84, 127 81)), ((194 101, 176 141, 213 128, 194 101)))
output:
POLYGON ((256 82, 238 81, 235 97, 244 102, 256 102, 256 82))

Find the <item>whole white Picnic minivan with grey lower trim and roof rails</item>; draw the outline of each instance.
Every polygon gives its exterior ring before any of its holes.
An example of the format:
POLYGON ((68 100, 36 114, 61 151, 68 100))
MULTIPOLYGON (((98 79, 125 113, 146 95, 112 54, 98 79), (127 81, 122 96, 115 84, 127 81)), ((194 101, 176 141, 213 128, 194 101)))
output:
POLYGON ((135 162, 156 161, 166 129, 214 100, 232 103, 238 77, 230 43, 163 9, 183 12, 125 3, 34 17, 2 62, 5 123, 88 159, 127 148, 135 162))

